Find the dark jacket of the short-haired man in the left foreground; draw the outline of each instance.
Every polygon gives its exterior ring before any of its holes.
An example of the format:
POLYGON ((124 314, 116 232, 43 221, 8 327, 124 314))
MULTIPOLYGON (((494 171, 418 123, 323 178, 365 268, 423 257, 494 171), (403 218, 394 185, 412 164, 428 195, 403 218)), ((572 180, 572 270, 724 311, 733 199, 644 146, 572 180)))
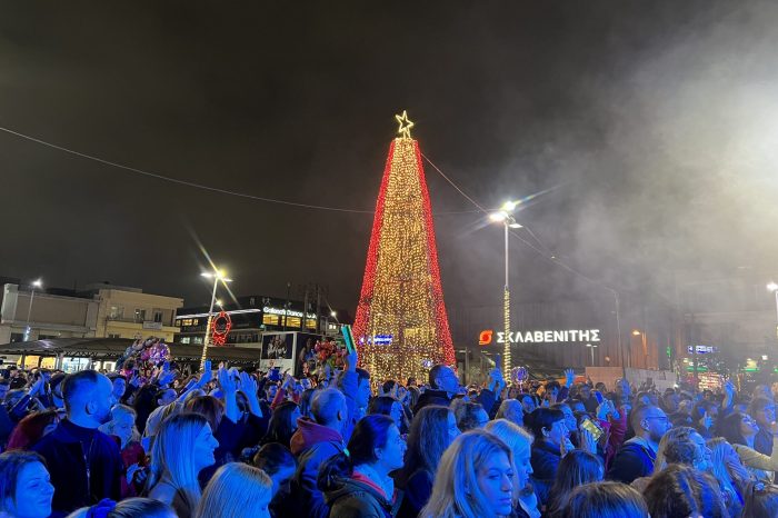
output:
POLYGON ((63 419, 32 450, 46 459, 54 486, 51 516, 121 498, 123 462, 110 436, 63 419))

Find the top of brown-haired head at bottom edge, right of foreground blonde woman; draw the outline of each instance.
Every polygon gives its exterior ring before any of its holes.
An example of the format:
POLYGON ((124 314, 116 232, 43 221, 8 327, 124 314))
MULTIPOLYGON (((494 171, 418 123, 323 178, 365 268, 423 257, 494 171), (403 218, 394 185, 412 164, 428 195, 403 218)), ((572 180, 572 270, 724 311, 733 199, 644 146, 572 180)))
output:
POLYGON ((654 518, 642 496, 621 482, 594 482, 570 494, 562 518, 654 518))

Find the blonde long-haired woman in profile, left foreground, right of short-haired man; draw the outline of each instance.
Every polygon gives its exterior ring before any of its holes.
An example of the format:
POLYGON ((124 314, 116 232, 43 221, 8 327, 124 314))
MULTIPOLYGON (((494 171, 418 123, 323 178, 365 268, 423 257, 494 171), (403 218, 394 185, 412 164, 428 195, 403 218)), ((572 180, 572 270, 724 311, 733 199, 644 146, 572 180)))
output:
POLYGON ((147 479, 149 498, 173 507, 179 518, 192 516, 200 501, 198 474, 216 462, 219 442, 199 414, 179 414, 159 430, 147 479))

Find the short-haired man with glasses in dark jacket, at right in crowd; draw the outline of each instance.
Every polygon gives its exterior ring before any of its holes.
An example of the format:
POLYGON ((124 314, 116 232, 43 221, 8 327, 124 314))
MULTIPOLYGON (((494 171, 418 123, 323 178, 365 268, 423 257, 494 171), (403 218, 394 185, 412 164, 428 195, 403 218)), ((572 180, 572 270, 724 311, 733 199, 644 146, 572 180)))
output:
POLYGON ((654 472, 659 441, 671 427, 665 411, 650 405, 632 409, 630 419, 635 437, 621 445, 606 477, 624 484, 654 472))

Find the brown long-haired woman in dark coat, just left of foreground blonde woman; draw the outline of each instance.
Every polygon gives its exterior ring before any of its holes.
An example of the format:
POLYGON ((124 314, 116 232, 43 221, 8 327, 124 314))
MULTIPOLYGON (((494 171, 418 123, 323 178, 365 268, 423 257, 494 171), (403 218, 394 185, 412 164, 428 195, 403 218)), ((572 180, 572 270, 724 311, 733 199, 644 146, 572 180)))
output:
POLYGON ((419 516, 432 494, 440 458, 458 436, 457 420, 447 407, 430 405, 416 415, 408 432, 405 466, 395 476, 405 492, 398 518, 419 516))

